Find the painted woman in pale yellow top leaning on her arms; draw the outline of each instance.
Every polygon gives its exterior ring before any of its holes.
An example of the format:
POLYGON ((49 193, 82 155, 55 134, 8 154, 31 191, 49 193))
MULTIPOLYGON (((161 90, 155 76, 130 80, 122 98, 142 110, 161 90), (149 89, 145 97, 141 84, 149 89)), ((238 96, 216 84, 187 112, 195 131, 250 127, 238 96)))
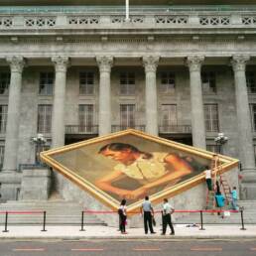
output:
POLYGON ((190 161, 177 154, 142 152, 125 143, 107 144, 98 153, 119 164, 111 173, 97 180, 95 185, 105 192, 115 193, 122 198, 141 198, 153 188, 161 186, 164 189, 167 185, 173 186, 193 172, 190 161), (125 177, 138 181, 140 187, 135 190, 125 190, 113 186, 116 181, 125 177))

